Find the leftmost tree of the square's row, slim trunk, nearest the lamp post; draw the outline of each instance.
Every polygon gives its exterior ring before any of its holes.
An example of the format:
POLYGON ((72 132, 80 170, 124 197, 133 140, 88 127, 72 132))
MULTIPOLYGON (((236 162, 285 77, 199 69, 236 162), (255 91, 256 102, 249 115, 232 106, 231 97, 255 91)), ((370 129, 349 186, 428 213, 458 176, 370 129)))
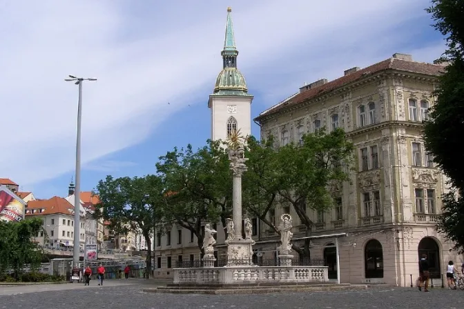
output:
POLYGON ((142 231, 148 248, 146 268, 151 270, 153 230, 162 222, 166 203, 162 179, 157 175, 117 179, 107 176, 99 181, 97 195, 97 212, 110 221, 117 235, 142 231))

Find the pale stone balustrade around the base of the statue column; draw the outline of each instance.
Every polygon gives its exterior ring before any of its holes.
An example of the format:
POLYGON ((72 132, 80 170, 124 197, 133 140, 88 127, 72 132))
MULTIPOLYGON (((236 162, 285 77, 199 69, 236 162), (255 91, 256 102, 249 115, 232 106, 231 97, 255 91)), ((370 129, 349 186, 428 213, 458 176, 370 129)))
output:
POLYGON ((327 266, 174 268, 174 283, 321 283, 329 281, 327 266))

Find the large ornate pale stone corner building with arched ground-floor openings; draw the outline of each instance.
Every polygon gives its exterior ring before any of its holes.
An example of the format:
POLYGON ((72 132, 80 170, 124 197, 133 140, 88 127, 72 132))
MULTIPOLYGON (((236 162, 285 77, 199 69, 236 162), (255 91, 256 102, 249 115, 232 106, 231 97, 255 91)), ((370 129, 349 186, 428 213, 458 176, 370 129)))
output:
MULTIPOLYGON (((343 128, 354 143, 356 171, 342 187, 342 198, 328 212, 313 212, 311 235, 347 233, 340 243, 340 281, 409 286, 418 276, 418 257, 426 253, 432 278, 441 284, 447 261, 461 263, 451 244, 436 232, 445 177, 435 168, 421 138, 422 121, 433 106, 432 91, 443 66, 415 62, 408 54, 367 68, 351 68, 344 76, 321 79, 262 112, 255 121, 261 138, 271 134, 276 146, 299 143, 318 128, 343 128)), ((288 210, 277 209, 275 217, 288 210)), ((295 223, 293 243, 305 226, 295 223)), ((266 228, 261 232, 266 233, 266 228)), ((255 250, 275 254, 264 239, 255 250)), ((312 240, 311 257, 323 257, 329 276, 337 277, 335 238, 312 240)))

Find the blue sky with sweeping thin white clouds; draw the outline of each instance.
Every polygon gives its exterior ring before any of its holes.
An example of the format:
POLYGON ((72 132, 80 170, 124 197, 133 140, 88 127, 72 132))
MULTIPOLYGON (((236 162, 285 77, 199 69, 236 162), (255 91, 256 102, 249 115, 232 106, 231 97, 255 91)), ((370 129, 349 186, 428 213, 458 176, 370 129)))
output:
POLYGON ((203 146, 228 6, 252 117, 305 82, 445 50, 423 0, 0 0, 0 178, 66 197, 78 93, 69 74, 98 79, 83 85, 81 190, 154 173, 175 146, 203 146))

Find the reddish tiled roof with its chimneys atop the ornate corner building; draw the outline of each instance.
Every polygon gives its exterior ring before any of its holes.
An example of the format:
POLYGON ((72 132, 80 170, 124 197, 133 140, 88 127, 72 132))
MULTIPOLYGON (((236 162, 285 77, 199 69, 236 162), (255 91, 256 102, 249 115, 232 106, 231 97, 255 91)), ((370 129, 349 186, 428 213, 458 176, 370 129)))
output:
POLYGON ((433 77, 438 77, 443 72, 444 65, 446 63, 439 63, 439 61, 434 61, 432 63, 416 62, 412 61, 412 57, 409 54, 399 54, 396 53, 392 58, 385 59, 375 63, 367 68, 351 68, 345 71, 345 76, 334 79, 333 81, 327 81, 327 79, 320 79, 309 85, 305 85, 300 88, 300 92, 292 94, 291 97, 284 99, 280 103, 272 106, 271 108, 261 112, 255 121, 261 121, 264 117, 268 117, 272 114, 276 114, 281 110, 289 108, 291 106, 296 106, 299 103, 315 99, 324 94, 342 88, 343 86, 348 86, 350 83, 371 77, 374 74, 385 72, 387 70, 396 70, 402 72, 411 72, 415 74, 423 74, 433 77))

